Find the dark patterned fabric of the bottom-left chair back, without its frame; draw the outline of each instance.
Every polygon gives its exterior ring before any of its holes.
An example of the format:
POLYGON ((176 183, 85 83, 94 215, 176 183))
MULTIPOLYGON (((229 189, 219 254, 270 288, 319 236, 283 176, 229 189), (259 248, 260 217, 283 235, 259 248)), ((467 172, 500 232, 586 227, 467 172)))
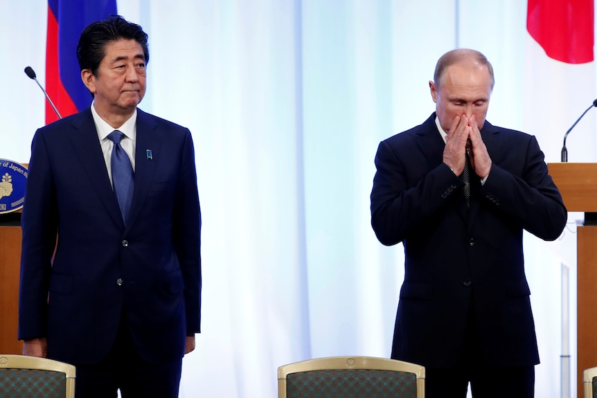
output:
POLYGON ((0 397, 64 398, 66 375, 30 369, 0 369, 0 397))

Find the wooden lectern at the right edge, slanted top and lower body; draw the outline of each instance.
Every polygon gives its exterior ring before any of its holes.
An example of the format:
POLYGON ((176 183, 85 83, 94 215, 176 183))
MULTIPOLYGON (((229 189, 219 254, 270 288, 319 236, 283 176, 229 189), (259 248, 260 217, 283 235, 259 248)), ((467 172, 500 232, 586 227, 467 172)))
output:
POLYGON ((585 212, 577 222, 577 392, 582 372, 597 366, 597 163, 549 163, 549 174, 569 212, 585 212))

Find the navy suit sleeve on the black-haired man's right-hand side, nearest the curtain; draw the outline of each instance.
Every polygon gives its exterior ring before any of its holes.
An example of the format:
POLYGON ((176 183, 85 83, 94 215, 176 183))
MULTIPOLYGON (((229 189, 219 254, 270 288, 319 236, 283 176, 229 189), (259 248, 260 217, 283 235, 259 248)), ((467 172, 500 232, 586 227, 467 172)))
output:
POLYGON ((193 139, 186 130, 177 183, 173 238, 184 279, 186 333, 200 332, 201 323, 201 210, 193 139))

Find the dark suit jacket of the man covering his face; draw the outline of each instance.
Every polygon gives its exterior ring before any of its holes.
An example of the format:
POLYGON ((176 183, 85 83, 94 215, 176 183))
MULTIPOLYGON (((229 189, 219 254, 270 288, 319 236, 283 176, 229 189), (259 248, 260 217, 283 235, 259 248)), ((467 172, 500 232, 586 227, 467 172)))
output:
POLYGON ((535 137, 485 122, 492 159, 485 184, 463 182, 443 163, 432 114, 382 141, 371 192, 371 223, 385 245, 404 244, 392 358, 434 368, 454 365, 467 317, 493 365, 539 363, 523 229, 556 239, 567 221, 562 197, 535 137))

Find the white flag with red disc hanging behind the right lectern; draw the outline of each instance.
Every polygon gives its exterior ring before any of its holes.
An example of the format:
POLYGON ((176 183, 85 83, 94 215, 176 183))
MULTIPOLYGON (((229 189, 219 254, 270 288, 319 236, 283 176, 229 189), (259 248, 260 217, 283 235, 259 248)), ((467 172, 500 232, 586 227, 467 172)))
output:
MULTIPOLYGON (((528 0, 524 54, 524 128, 546 161, 560 161, 565 132, 597 98, 594 0, 528 0)), ((566 142, 570 162, 597 160, 595 112, 566 142)))

